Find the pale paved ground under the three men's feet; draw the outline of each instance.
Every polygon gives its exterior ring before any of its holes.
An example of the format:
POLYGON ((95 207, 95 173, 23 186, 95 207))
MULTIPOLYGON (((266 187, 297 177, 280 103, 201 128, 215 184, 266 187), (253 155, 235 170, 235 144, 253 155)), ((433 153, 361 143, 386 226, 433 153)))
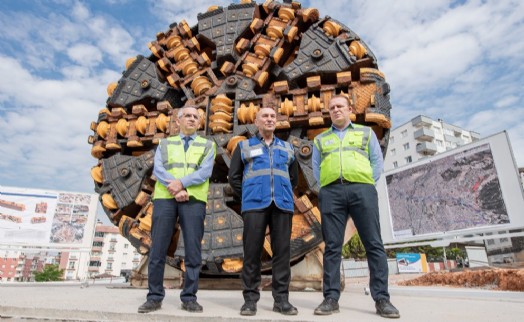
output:
MULTIPOLYGON (((365 295, 363 280, 346 282, 340 299, 340 313, 315 316, 313 309, 322 301, 320 292, 292 292, 291 302, 297 316, 283 316, 272 311, 270 291, 262 292, 258 313, 242 317, 240 291, 200 290, 199 302, 204 313, 180 309, 180 290, 167 290, 160 311, 138 314, 147 291, 127 284, 1 284, 0 317, 2 321, 26 319, 47 321, 386 321, 375 314, 374 303, 365 295)), ((390 286, 392 302, 399 308, 400 321, 522 321, 524 293, 444 287, 390 286)))

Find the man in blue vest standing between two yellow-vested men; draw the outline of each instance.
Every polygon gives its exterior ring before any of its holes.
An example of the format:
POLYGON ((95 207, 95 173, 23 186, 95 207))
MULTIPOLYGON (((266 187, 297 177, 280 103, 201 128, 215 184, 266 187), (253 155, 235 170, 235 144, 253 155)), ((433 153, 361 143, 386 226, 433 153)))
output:
POLYGON ((262 107, 255 119, 258 134, 239 143, 229 168, 229 183, 242 199, 244 220, 241 281, 245 303, 241 315, 257 312, 260 256, 267 226, 271 237, 273 311, 285 315, 298 313, 289 303, 293 187, 298 182, 298 164, 291 144, 274 135, 276 121, 275 110, 262 107))

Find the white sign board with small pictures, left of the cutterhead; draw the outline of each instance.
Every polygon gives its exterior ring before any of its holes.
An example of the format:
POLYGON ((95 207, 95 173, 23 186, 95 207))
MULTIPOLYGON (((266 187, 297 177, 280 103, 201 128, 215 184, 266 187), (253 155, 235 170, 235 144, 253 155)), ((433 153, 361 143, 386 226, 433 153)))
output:
POLYGON ((0 245, 91 248, 96 194, 0 186, 0 245))

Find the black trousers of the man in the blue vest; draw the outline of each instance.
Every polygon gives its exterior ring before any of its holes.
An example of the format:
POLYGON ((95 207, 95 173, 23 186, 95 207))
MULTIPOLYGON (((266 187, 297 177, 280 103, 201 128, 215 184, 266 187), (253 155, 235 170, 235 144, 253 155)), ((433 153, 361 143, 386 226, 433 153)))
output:
POLYGON ((261 282, 262 248, 266 227, 269 225, 271 237, 272 292, 275 302, 287 301, 289 282, 291 280, 291 224, 293 214, 283 212, 274 203, 268 208, 257 211, 246 211, 244 219, 244 266, 242 267, 242 294, 246 302, 258 302, 261 282))

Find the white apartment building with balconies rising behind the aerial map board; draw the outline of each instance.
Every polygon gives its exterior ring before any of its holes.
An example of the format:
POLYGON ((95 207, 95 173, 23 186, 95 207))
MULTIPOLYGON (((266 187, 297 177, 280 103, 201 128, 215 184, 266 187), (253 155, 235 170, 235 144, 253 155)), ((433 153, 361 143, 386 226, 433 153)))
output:
POLYGON ((458 146, 478 141, 480 134, 419 115, 393 129, 389 136, 384 171, 405 166, 458 146))

